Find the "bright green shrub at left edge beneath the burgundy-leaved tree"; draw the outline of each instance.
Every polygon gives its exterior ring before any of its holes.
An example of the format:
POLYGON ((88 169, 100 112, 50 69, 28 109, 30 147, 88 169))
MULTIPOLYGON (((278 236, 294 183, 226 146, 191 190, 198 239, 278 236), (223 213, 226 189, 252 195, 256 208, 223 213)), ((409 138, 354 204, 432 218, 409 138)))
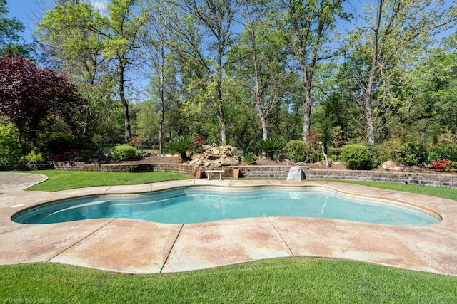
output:
POLYGON ((0 124, 0 165, 16 164, 21 159, 21 148, 13 124, 0 124))

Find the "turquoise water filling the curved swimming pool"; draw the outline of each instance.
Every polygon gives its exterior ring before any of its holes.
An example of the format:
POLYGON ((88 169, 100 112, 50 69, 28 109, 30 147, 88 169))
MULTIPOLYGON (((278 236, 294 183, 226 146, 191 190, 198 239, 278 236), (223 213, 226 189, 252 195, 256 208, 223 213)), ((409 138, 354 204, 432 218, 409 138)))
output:
POLYGON ((13 220, 49 224, 99 218, 132 218, 190 224, 259 216, 303 216, 417 226, 436 224, 431 212, 355 199, 320 189, 184 187, 146 194, 85 196, 20 211, 13 220))

